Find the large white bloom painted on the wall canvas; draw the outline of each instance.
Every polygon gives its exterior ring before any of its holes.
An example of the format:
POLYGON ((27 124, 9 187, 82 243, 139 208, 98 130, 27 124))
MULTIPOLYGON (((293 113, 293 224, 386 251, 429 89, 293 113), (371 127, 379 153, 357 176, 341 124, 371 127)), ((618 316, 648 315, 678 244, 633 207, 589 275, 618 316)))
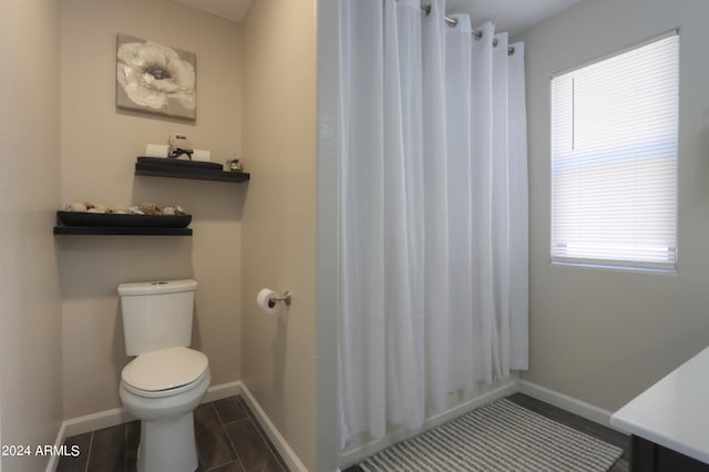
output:
POLYGON ((187 110, 195 107, 195 69, 171 48, 152 42, 121 44, 117 80, 136 104, 165 109, 176 100, 187 110))

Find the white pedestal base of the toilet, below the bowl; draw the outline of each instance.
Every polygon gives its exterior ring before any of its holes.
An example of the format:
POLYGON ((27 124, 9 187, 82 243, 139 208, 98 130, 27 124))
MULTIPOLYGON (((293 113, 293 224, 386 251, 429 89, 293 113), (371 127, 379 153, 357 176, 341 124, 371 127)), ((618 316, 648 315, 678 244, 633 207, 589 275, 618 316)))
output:
POLYGON ((141 421, 138 472, 194 472, 197 447, 193 413, 141 421))

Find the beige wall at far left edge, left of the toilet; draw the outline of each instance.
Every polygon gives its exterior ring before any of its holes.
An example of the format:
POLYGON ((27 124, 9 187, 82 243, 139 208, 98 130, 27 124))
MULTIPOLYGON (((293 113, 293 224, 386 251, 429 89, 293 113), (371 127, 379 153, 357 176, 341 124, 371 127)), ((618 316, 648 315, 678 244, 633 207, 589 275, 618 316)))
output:
MULTIPOLYGON (((0 444, 53 444, 62 420, 59 3, 0 3, 0 444)), ((33 452, 33 451, 32 451, 33 452)), ((3 454, 0 469, 48 458, 3 454)))

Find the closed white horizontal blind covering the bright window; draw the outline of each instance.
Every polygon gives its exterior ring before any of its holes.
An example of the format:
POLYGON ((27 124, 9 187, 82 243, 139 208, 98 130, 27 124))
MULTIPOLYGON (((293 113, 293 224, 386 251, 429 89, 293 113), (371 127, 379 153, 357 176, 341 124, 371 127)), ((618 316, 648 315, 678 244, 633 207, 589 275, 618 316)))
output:
POLYGON ((679 35, 552 79, 552 261, 676 270, 679 35))

